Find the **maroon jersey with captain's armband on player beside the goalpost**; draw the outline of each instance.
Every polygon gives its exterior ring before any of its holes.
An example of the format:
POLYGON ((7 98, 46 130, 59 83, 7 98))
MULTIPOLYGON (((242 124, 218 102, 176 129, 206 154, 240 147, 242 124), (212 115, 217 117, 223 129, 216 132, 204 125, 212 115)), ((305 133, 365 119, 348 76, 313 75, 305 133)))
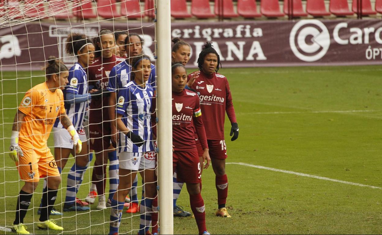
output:
POLYGON ((197 94, 189 90, 172 92, 172 144, 175 151, 196 151, 194 125, 203 149, 208 148, 197 94))

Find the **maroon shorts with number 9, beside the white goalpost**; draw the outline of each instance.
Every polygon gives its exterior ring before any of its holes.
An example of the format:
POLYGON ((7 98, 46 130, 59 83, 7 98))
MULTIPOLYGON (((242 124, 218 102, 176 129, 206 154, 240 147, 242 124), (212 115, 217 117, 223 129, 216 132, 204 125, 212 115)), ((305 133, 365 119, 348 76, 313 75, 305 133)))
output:
POLYGON ((185 183, 200 183, 201 166, 197 151, 172 153, 173 172, 176 172, 176 180, 185 183))

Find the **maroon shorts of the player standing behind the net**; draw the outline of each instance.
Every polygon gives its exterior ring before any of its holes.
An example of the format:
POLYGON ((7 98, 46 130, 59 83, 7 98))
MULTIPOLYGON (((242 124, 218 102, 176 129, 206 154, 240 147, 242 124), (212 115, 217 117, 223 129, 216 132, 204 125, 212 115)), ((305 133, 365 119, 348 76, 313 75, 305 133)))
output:
MULTIPOLYGON (((90 149, 95 152, 107 150, 111 141, 111 127, 108 121, 89 123, 90 149)), ((117 147, 113 143, 113 147, 117 147)))

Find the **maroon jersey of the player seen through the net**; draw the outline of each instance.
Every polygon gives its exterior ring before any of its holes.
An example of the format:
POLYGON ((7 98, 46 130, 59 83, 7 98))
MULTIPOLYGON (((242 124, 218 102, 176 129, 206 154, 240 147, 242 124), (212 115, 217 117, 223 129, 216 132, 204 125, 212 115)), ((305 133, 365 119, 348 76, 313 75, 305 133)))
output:
MULTIPOLYGON (((115 55, 110 58, 102 58, 101 56, 95 58, 87 69, 89 85, 95 86, 95 89, 106 89, 109 82, 110 70, 121 61, 124 61, 124 59, 115 55)), ((89 114, 90 123, 109 120, 108 106, 108 97, 92 98, 89 114), (100 115, 101 109, 102 115, 100 115)))

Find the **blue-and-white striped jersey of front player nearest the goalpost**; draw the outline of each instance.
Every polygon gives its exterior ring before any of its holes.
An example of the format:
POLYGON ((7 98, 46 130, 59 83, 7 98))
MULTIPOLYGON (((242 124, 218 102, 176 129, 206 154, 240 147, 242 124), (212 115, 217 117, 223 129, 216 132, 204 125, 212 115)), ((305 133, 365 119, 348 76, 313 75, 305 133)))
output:
POLYGON ((126 127, 138 134, 144 140, 141 147, 133 144, 125 134, 119 133, 118 153, 120 152, 149 152, 154 150, 151 127, 151 109, 154 89, 150 85, 145 88, 134 81, 129 82, 117 95, 117 114, 122 114, 122 121, 126 127))

